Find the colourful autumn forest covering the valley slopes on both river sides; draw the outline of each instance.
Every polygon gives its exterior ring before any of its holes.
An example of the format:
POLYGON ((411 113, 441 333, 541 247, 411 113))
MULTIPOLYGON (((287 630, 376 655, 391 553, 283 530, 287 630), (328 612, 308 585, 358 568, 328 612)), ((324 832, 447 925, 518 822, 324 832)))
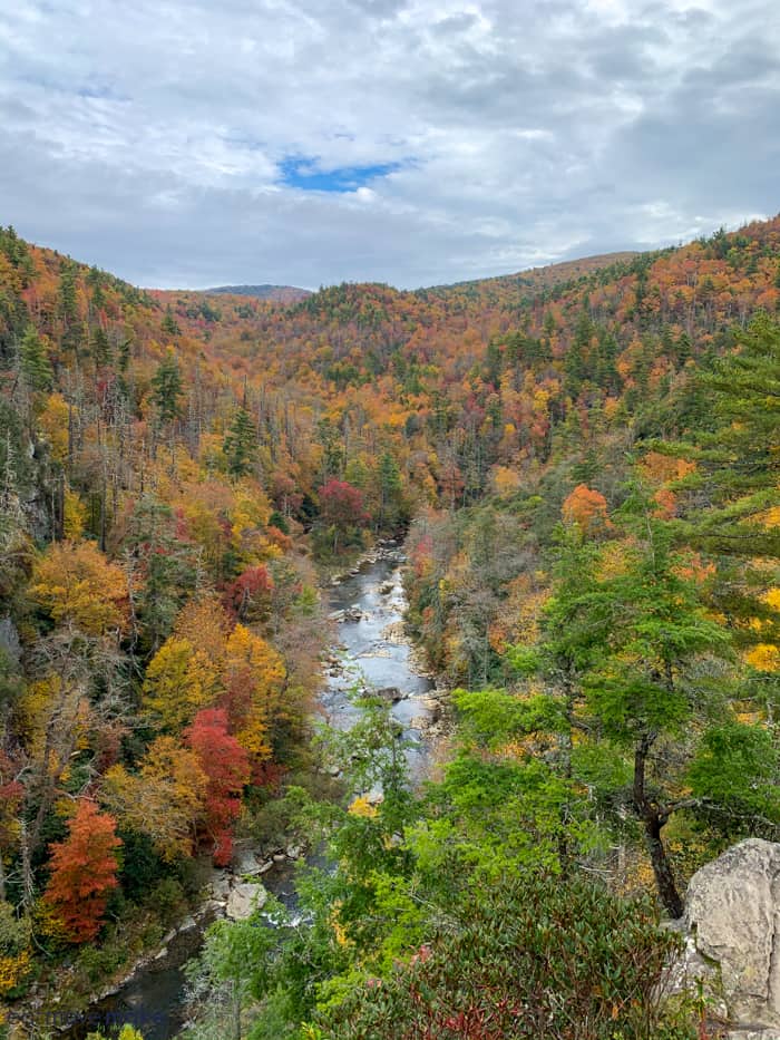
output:
MULTIPOLYGON (((342 866, 282 954, 240 926, 207 950, 253 1036, 543 1036, 511 993, 474 1024, 503 973, 475 921, 500 965, 501 900, 527 950, 523 886, 562 920, 567 893, 613 921, 608 980, 621 900, 679 916, 704 858, 777 836, 779 313, 780 217, 296 302, 143 291, 0 231, 0 994, 154 944, 293 787, 342 866), (379 712, 341 765, 370 751, 384 800, 315 811, 319 573, 401 533, 409 630, 462 688, 448 764, 418 797, 379 712)), ((645 1036, 616 1007, 582 1036, 645 1036)))

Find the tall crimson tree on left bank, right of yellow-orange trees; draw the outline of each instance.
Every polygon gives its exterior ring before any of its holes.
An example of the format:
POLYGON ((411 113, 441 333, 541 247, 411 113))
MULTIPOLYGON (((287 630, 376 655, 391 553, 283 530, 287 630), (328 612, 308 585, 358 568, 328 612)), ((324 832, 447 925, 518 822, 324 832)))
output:
POLYGON ((212 842, 214 863, 226 866, 233 854, 233 822, 241 811, 241 793, 250 779, 248 757, 227 732, 227 712, 221 708, 198 711, 186 731, 186 741, 208 780, 204 829, 212 842))

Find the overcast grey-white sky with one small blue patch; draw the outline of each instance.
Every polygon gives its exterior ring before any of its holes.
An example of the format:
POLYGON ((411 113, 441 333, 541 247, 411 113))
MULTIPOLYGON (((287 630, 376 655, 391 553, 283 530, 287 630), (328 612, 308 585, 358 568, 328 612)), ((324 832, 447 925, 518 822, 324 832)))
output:
POLYGON ((0 4, 0 223, 135 284, 415 288, 778 211, 778 0, 0 4))

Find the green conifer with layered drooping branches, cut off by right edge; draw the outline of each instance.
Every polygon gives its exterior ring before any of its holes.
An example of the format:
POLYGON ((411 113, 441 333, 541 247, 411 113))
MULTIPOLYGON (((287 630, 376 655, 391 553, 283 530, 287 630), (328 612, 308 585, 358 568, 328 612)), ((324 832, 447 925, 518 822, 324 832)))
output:
POLYGON ((777 584, 780 525, 780 324, 759 314, 737 334, 738 349, 699 376, 703 407, 683 441, 659 443, 695 469, 672 485, 681 518, 675 536, 716 564, 715 609, 743 644, 780 642, 778 613, 766 600, 777 584), (758 622, 758 624, 757 624, 758 622))

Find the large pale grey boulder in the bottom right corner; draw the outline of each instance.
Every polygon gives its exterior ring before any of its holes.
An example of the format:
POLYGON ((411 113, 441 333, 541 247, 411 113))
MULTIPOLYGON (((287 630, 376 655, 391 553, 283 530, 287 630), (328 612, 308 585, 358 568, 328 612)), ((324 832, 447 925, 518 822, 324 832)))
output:
POLYGON ((691 878, 683 969, 725 1004, 734 1040, 780 1040, 780 844, 749 838, 691 878))

